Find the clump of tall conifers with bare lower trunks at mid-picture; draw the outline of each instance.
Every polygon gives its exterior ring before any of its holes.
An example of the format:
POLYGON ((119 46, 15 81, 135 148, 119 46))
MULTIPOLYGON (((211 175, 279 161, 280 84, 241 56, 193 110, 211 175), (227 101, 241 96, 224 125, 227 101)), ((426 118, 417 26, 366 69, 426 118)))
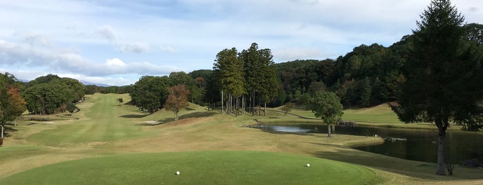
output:
MULTIPOLYGON (((258 49, 257 43, 252 43, 247 50, 238 52, 236 48, 218 52, 214 63, 216 86, 222 93, 226 103, 226 113, 240 115, 245 110, 252 115, 261 115, 263 102, 265 108, 277 95, 278 80, 276 79, 275 63, 271 50, 258 49), (226 94, 224 93, 226 92, 226 94), (248 106, 246 106, 248 105, 248 106)), ((222 108, 222 113, 225 110, 222 108)), ((266 111, 263 111, 265 115, 266 111)))

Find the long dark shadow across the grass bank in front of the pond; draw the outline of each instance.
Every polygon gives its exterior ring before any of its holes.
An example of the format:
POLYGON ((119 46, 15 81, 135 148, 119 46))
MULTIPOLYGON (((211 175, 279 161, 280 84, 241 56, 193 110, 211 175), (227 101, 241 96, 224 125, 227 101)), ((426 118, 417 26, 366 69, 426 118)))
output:
MULTIPOLYGON (((340 162, 348 162, 351 164, 359 164, 378 168, 383 171, 389 171, 400 175, 408 175, 422 179, 441 179, 436 173, 436 164, 428 162, 417 162, 396 157, 389 157, 375 153, 368 153, 361 150, 352 150, 345 146, 337 146, 332 144, 318 144, 320 146, 332 146, 335 150, 319 151, 313 153, 316 157, 331 159, 340 162)), ((457 179, 482 179, 483 173, 478 169, 456 168, 453 177, 457 179)), ((451 177, 451 178, 453 178, 451 177)), ((448 177, 449 178, 449 177, 448 177)))

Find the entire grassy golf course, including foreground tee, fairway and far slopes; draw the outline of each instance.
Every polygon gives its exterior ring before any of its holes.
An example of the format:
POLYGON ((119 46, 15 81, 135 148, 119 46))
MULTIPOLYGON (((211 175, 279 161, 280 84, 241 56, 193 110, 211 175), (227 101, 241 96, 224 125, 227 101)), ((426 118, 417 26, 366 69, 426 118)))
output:
MULTIPOLYGON (((380 144, 380 137, 267 132, 245 127, 257 123, 252 115, 196 104, 174 121, 171 111, 148 114, 118 98, 131 99, 87 95, 72 116, 23 115, 8 125, 0 184, 483 184, 481 169, 457 166, 453 176, 441 176, 433 163, 350 148, 380 144)), ((345 110, 343 119, 433 128, 403 124, 388 111, 345 110)), ((321 124, 311 117, 307 110, 270 109, 260 119, 321 124)))

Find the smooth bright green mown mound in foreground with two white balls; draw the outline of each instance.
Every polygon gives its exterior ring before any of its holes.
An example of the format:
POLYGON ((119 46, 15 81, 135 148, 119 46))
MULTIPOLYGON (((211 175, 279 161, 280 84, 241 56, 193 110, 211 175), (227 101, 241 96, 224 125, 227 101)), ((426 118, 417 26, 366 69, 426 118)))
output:
POLYGON ((374 184, 376 181, 375 173, 366 167, 305 155, 193 151, 133 153, 61 162, 17 173, 1 179, 0 184, 374 184))

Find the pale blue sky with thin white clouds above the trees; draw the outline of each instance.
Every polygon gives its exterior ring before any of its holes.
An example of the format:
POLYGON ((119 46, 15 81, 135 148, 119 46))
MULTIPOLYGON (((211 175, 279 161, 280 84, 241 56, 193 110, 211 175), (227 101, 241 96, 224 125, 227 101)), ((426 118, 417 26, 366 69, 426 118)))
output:
MULTIPOLYGON (((483 1, 453 0, 467 23, 483 1)), ((276 63, 336 59, 390 46, 417 28, 430 0, 0 0, 0 72, 99 84, 213 68, 225 48, 258 43, 276 63)))

